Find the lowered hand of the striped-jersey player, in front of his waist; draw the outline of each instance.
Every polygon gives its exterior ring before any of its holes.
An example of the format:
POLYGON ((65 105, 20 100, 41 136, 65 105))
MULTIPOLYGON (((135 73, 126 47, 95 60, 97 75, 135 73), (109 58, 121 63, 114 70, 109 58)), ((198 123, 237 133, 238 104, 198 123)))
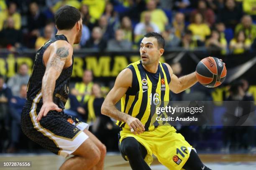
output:
POLYGON ((131 132, 134 135, 136 135, 136 133, 141 134, 145 130, 144 125, 136 117, 129 116, 128 119, 126 120, 126 123, 130 127, 131 132))

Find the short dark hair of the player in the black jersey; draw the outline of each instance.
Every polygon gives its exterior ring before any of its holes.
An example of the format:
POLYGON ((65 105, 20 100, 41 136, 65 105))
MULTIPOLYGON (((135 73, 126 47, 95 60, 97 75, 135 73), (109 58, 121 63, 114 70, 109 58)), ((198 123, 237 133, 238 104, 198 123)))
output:
POLYGON ((81 18, 81 13, 75 7, 65 5, 56 11, 55 23, 58 30, 70 30, 81 18))

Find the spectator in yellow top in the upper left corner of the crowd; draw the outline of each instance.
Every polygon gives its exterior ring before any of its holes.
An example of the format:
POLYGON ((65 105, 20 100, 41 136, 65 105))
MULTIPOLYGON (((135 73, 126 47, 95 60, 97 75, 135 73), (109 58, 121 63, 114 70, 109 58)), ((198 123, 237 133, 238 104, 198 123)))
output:
POLYGON ((20 30, 21 17, 16 10, 17 10, 17 5, 14 2, 10 2, 10 4, 8 5, 8 10, 0 12, 0 30, 3 29, 4 23, 9 17, 11 17, 14 21, 14 29, 20 30))

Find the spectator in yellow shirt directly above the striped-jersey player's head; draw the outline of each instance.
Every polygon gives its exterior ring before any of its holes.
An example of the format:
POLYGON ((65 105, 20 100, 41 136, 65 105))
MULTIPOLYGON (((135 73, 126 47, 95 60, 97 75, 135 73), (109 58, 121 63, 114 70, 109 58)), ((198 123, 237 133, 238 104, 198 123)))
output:
MULTIPOLYGON (((156 2, 149 0, 147 3, 147 9, 151 13, 151 22, 156 24, 159 30, 164 31, 165 26, 168 24, 168 18, 163 10, 156 8, 156 2)), ((141 13, 141 23, 144 22, 144 15, 146 11, 141 13)))

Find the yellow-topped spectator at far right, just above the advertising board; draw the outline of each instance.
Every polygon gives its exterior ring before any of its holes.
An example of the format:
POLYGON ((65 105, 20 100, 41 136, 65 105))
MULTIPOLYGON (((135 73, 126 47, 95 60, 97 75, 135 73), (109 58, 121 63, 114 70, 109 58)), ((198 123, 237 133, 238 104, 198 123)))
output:
POLYGON ((239 31, 230 41, 229 48, 233 54, 241 54, 251 47, 251 40, 247 39, 243 31, 239 31))

